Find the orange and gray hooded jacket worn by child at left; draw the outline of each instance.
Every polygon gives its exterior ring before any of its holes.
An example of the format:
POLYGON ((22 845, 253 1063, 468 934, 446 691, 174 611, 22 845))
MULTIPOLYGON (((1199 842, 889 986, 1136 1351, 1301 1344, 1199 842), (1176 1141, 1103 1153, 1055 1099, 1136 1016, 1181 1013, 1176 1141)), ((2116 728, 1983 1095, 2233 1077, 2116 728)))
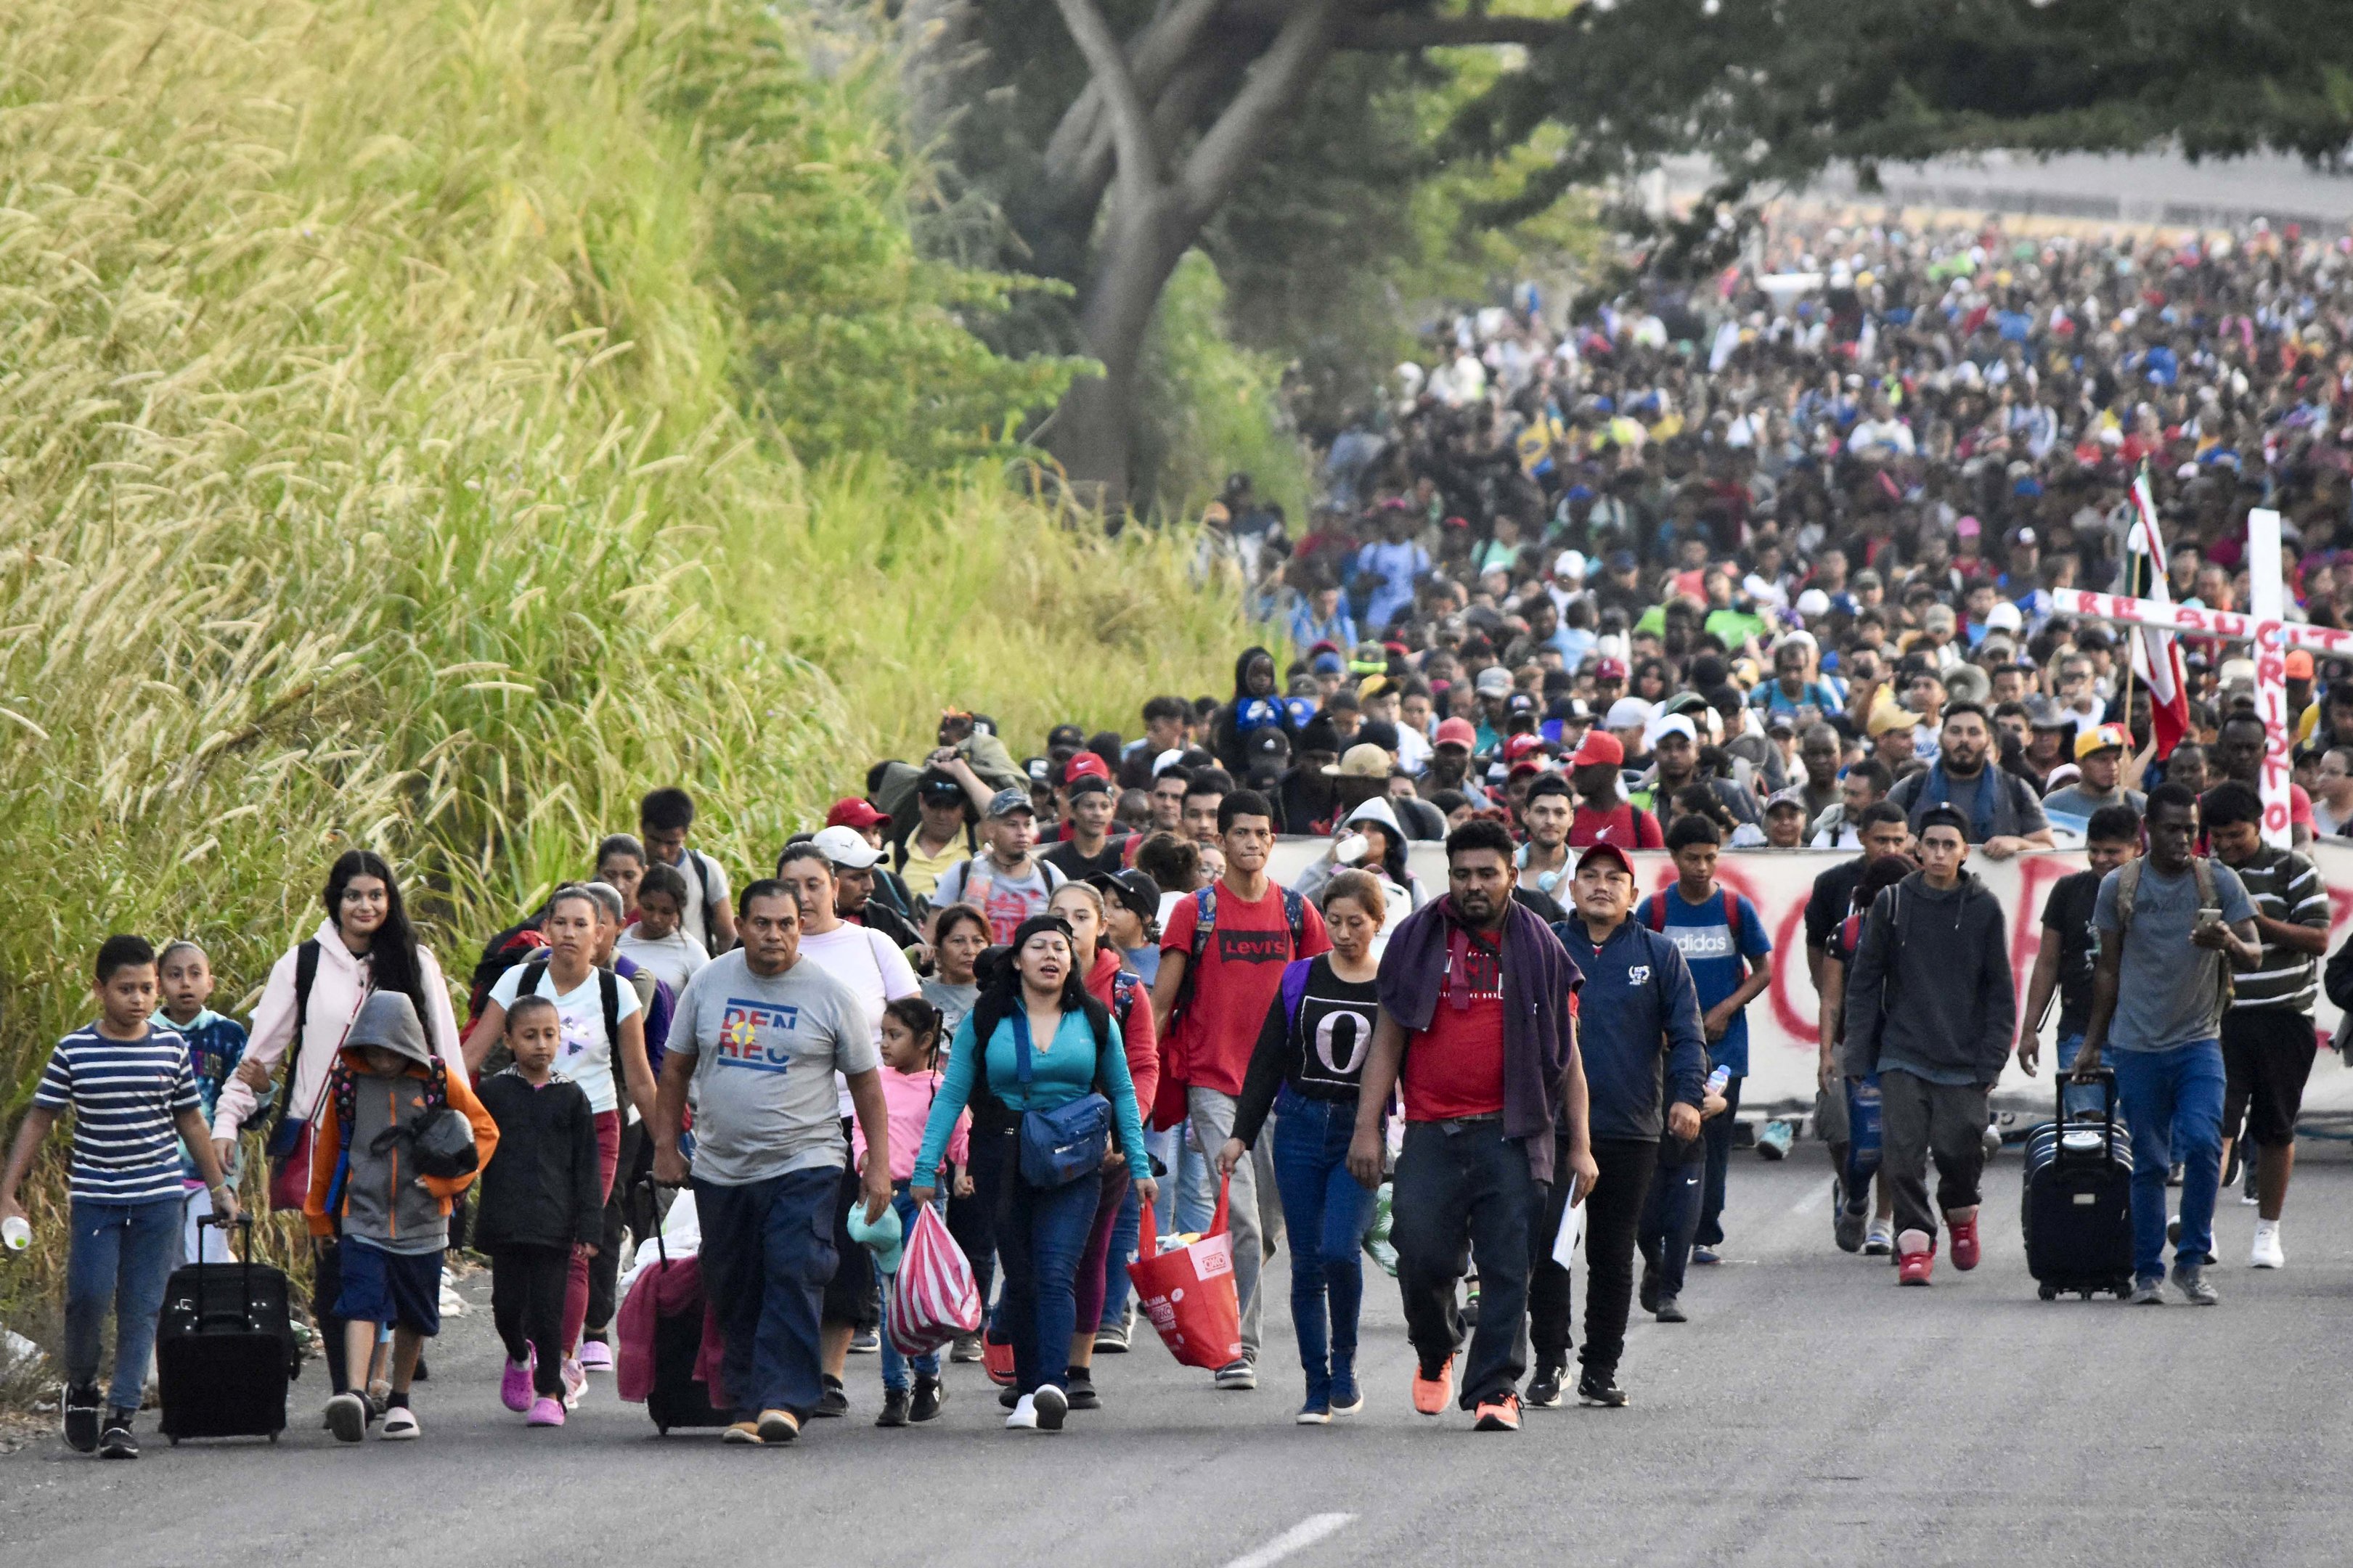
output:
POLYGON ((449 1208, 475 1172, 416 1175, 405 1132, 440 1111, 433 1102, 435 1078, 442 1081, 449 1107, 473 1125, 475 1170, 499 1147, 499 1123, 475 1099, 464 1071, 435 1074, 440 1057, 426 1050, 416 1005, 400 991, 376 991, 360 1005, 339 1067, 351 1074, 351 1118, 346 1123, 344 1097, 329 1078, 311 1151, 311 1194, 304 1201, 311 1234, 341 1234, 384 1253, 440 1253, 449 1245, 449 1208), (362 1055, 365 1045, 398 1052, 402 1069, 376 1074, 362 1055))

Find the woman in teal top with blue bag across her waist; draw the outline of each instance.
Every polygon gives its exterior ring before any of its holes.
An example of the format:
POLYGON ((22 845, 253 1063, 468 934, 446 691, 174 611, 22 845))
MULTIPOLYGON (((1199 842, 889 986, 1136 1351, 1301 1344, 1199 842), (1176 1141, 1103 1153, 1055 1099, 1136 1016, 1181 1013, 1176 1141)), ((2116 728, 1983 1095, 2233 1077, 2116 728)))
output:
MULTIPOLYGON (((1071 928, 1059 916, 1035 916, 1014 932, 1009 961, 955 1029, 955 1050, 932 1099, 915 1170, 939 1168, 948 1132, 967 1102, 995 1102, 1007 1111, 974 1116, 974 1140, 984 1137, 986 1125, 1002 1128, 995 1137, 1019 1140, 1024 1111, 1059 1111, 1089 1092, 1111 1102, 1129 1170, 1151 1172, 1136 1088, 1111 1015, 1087 996, 1073 961, 1071 928), (1031 1041, 1028 1083, 1021 1083, 1016 1045, 1016 1029, 1024 1026, 1031 1041)), ((1019 1403, 1005 1424, 1061 1431, 1061 1417, 1071 1408, 1064 1389, 1071 1373, 1071 1326, 1078 1318, 1078 1260, 1087 1250, 1101 1182, 1087 1172, 1061 1187, 1033 1187, 1021 1175, 1014 1144, 1005 1149, 1002 1170, 998 1260, 1005 1264, 1005 1293, 998 1297, 998 1326, 1014 1342, 1019 1389, 1019 1403)), ((1136 1177, 1136 1194, 1146 1203, 1160 1196, 1151 1175, 1136 1177)), ((932 1189, 913 1187, 908 1196, 929 1203, 932 1189)))

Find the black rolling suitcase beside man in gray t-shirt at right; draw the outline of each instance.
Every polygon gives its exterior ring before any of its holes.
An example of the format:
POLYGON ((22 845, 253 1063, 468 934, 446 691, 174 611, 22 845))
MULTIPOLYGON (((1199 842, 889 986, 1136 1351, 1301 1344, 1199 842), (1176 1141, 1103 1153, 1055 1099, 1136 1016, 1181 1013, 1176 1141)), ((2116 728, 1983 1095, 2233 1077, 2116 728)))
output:
POLYGON ((2132 1137, 2115 1121, 2115 1074, 2099 1074, 2097 1121, 2068 1121, 2066 1085, 2061 1074, 2059 1121, 2026 1135, 2026 1271, 2045 1302, 2061 1290, 2122 1300, 2132 1295, 2132 1137))

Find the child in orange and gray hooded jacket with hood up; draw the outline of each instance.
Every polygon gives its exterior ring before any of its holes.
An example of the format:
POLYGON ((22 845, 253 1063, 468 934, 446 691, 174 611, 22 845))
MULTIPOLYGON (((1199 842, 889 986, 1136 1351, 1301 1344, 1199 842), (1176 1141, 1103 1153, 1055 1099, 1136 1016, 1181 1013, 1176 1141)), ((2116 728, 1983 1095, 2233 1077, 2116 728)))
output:
MULTIPOLYGON (((346 1368, 365 1368, 376 1326, 393 1326, 393 1391, 384 1439, 414 1439, 409 1380, 424 1342, 440 1333, 440 1255, 449 1210, 499 1147, 499 1123, 426 1045, 416 1003, 376 991, 344 1036, 311 1154, 304 1217, 318 1241, 341 1236, 346 1368), (438 1125, 456 1111, 471 1149, 438 1125)), ((327 1429, 344 1443, 367 1436, 374 1410, 344 1387, 327 1401, 327 1429)))

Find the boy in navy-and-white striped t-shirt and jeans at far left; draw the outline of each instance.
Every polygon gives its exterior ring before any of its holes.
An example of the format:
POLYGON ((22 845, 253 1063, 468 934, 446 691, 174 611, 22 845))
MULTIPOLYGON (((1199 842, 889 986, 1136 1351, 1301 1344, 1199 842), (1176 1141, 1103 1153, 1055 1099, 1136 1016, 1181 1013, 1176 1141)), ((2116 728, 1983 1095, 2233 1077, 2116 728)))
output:
POLYGON ((0 1170, 0 1222, 24 1217, 16 1187, 49 1128, 71 1109, 66 1441, 106 1460, 136 1460, 132 1417, 155 1349, 165 1281, 179 1262, 179 1140, 186 1140, 212 1191, 212 1212, 233 1222, 238 1196, 221 1182, 188 1067, 188 1041, 151 1024, 155 949, 141 937, 108 937, 99 946, 92 989, 99 1019, 56 1043, 33 1090, 33 1109, 16 1128, 7 1170, 0 1170), (108 1304, 115 1309, 115 1377, 101 1427, 99 1330, 108 1304))

